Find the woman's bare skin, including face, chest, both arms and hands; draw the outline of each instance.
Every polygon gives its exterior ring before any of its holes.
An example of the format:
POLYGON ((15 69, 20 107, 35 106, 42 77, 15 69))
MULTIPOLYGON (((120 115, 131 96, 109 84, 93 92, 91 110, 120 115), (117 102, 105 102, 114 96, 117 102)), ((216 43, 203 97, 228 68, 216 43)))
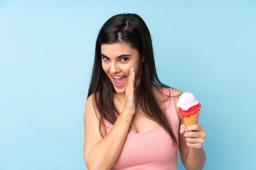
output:
MULTIPOLYGON (((110 170, 121 153, 128 133, 142 133, 159 127, 159 124, 143 116, 141 109, 136 107, 135 91, 141 77, 143 57, 125 42, 103 44, 101 54, 102 68, 116 90, 114 102, 120 115, 108 134, 105 126, 101 125, 101 129, 105 131, 102 138, 99 133, 99 113, 94 110, 93 96, 88 98, 85 107, 84 141, 84 159, 88 170, 110 170), (113 76, 126 76, 126 81, 121 86, 116 85, 113 76)), ((162 99, 163 96, 157 90, 154 92, 157 98, 162 99)), ((180 90, 173 89, 174 96, 179 94, 182 94, 180 90)), ((178 97, 174 98, 175 106, 178 99, 178 97)), ((164 106, 164 102, 159 105, 164 106)), ((177 107, 176 110, 178 111, 177 107)), ((194 124, 185 128, 183 120, 179 119, 179 121, 179 149, 182 163, 187 170, 200 170, 206 159, 202 147, 206 137, 204 127, 194 124)))

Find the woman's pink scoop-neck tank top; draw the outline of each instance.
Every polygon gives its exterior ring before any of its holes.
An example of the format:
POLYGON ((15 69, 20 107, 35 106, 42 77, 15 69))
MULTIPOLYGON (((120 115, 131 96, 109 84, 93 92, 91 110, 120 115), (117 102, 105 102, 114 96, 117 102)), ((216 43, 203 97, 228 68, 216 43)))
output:
MULTIPOLYGON (((173 96, 172 89, 164 88, 163 93, 173 96)), ((179 141, 179 120, 173 97, 164 96, 166 115, 173 133, 179 141)), ((107 133, 112 124, 104 120, 107 133)), ((111 170, 177 170, 178 145, 173 142, 162 126, 143 133, 128 133, 121 153, 111 170)))

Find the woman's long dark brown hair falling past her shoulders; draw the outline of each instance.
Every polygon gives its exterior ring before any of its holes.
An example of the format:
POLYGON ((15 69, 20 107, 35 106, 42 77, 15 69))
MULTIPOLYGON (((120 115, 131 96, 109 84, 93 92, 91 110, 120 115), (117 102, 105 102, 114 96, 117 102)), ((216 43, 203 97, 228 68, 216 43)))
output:
POLYGON ((168 86, 161 83, 157 77, 152 41, 148 27, 139 15, 129 13, 111 17, 103 24, 96 41, 88 97, 94 94, 94 109, 97 109, 97 112, 100 113, 99 130, 101 136, 103 137, 100 129, 103 119, 114 124, 119 115, 119 111, 114 104, 115 88, 102 69, 101 45, 117 42, 128 43, 132 48, 139 51, 141 57, 144 57, 140 85, 137 88, 137 105, 141 106, 142 111, 148 118, 157 122, 170 134, 173 144, 177 144, 177 139, 170 126, 171 122, 166 119, 165 112, 159 106, 159 99, 153 93, 153 85, 161 87, 168 86))

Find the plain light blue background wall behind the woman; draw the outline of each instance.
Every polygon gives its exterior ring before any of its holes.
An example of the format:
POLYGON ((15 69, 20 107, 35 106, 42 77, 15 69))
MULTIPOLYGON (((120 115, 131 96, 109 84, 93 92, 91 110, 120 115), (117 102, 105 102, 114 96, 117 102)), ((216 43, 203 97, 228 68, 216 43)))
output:
POLYGON ((201 102, 204 169, 255 169, 255 0, 0 0, 0 170, 86 169, 95 41, 125 12, 148 25, 160 80, 201 102))

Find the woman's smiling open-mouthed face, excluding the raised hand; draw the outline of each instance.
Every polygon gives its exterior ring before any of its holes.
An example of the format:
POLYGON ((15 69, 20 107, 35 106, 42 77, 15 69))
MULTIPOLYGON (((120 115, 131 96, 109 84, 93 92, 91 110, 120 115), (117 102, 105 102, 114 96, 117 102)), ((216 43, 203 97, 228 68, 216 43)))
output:
POLYGON ((135 70, 135 82, 141 77, 142 60, 139 51, 126 42, 101 45, 101 61, 104 72, 110 78, 117 93, 125 93, 130 68, 135 70))

